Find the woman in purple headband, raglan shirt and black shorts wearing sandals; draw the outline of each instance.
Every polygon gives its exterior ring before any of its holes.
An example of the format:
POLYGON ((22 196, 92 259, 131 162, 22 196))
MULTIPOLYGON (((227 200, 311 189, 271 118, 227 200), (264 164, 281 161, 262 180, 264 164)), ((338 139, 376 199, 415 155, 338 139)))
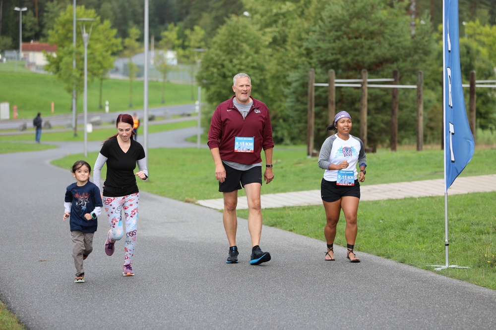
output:
POLYGON ((341 111, 334 117, 334 122, 327 130, 337 130, 328 137, 318 155, 318 166, 324 169, 320 183, 320 196, 324 204, 327 223, 324 236, 327 242, 326 261, 334 259, 334 238, 339 215, 343 210, 346 220, 344 236, 348 248, 347 258, 350 262, 360 262, 353 248, 357 238, 357 214, 360 202, 360 182, 365 180, 367 157, 362 140, 350 134, 351 116, 341 111), (357 172, 357 165, 360 172, 357 172))

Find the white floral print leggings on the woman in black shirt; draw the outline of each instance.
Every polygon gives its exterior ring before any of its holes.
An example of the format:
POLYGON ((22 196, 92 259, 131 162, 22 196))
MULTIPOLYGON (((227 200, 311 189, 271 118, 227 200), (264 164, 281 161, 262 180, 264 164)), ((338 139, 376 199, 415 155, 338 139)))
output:
POLYGON ((103 197, 103 204, 110 222, 110 239, 120 240, 124 236, 122 209, 125 216, 124 265, 132 262, 136 247, 136 224, 138 220, 139 192, 123 197, 103 197))

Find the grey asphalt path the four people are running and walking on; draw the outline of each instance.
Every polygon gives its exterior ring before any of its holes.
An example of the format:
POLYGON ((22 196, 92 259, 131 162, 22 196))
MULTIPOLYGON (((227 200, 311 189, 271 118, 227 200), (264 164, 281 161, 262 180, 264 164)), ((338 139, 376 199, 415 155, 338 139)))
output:
MULTIPOLYGON (((187 130, 151 134, 150 145, 186 145, 187 130)), ((322 241, 275 228, 263 227, 261 241, 272 260, 250 266, 244 219, 240 263, 228 265, 218 211, 145 192, 136 275, 122 276, 123 241, 112 257, 105 254, 108 222, 100 217, 86 283, 75 284, 69 224, 62 222, 73 178, 50 165, 75 146, 60 145, 0 155, 0 297, 30 330, 495 327, 495 290, 366 253, 352 264, 339 246, 336 261, 324 261, 322 241)))

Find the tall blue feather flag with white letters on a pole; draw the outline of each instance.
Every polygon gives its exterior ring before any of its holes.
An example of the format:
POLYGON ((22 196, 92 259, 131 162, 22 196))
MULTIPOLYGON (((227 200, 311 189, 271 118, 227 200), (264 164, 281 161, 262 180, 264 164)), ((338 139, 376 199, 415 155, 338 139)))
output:
POLYGON ((447 192, 472 159, 475 142, 463 97, 458 0, 443 1, 444 192, 447 192))

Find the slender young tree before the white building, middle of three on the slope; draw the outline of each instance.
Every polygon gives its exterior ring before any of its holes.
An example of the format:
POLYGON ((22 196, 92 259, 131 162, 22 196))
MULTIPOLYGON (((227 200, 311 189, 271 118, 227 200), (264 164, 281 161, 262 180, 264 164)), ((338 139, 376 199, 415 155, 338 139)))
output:
POLYGON ((167 51, 179 50, 181 41, 178 38, 179 27, 174 23, 169 24, 167 30, 163 31, 160 36, 159 48, 161 51, 155 51, 155 68, 162 74, 162 103, 165 103, 165 83, 167 74, 173 69, 173 65, 168 63, 167 51))

